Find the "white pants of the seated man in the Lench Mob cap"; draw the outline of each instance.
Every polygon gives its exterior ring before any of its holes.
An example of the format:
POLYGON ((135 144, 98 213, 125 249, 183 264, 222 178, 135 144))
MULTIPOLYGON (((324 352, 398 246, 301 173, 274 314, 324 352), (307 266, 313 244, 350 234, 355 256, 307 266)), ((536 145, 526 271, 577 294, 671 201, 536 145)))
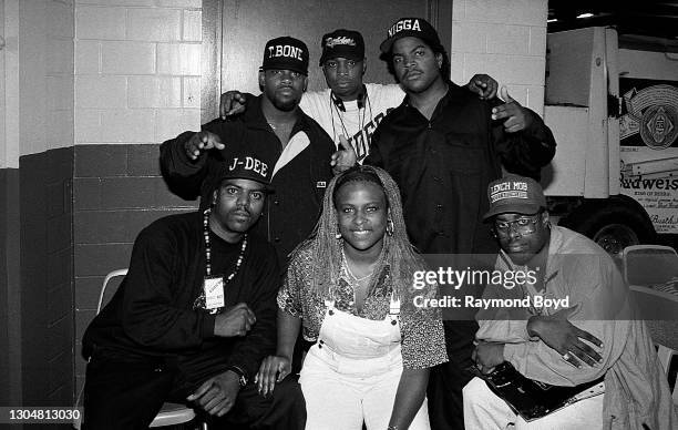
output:
POLYGON ((466 430, 598 430, 603 429, 605 395, 577 401, 534 421, 516 416, 480 378, 473 378, 463 389, 464 426, 466 430))

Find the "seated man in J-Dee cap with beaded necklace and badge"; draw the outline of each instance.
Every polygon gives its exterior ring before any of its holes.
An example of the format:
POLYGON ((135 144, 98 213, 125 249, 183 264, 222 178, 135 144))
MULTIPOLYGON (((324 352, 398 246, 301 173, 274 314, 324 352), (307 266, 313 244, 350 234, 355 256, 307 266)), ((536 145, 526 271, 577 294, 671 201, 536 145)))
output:
POLYGON ((212 428, 304 428, 296 380, 266 398, 251 380, 276 349, 276 254, 248 233, 270 172, 248 154, 226 160, 209 208, 140 233, 127 276, 84 335, 83 428, 147 428, 165 401, 203 410, 212 428))

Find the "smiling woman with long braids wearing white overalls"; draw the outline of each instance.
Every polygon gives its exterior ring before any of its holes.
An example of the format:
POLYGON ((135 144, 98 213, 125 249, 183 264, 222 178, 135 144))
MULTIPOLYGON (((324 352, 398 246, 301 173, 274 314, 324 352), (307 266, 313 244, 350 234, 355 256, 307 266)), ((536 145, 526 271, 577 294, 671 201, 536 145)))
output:
POLYGON ((436 293, 412 287, 424 269, 393 180, 372 166, 336 176, 278 293, 277 355, 260 366, 260 392, 289 373, 302 326, 315 342, 299 379, 307 429, 429 429, 429 368, 448 358, 440 313, 413 304, 436 293))

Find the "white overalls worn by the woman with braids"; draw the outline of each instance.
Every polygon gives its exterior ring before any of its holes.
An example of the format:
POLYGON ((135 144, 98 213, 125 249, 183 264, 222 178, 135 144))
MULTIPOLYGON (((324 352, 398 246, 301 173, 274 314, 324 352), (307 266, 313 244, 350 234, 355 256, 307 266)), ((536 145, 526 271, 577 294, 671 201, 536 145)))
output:
MULTIPOLYGON (((318 341, 306 356, 299 382, 306 399, 307 430, 368 430, 388 427, 402 373, 400 303, 371 320, 326 300, 318 341)), ((429 430, 424 399, 411 430, 429 430)))

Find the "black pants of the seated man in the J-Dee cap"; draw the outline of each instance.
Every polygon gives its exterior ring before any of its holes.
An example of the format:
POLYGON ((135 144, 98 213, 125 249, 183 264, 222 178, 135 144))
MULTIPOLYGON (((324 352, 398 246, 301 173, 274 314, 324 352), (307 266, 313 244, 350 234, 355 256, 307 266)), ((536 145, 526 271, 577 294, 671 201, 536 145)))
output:
MULTIPOLYGON (((185 403, 187 396, 220 370, 187 375, 167 360, 96 351, 86 369, 83 429, 146 429, 165 401, 185 403)), ((278 383, 273 396, 266 398, 250 382, 240 389, 226 416, 208 421, 212 429, 239 424, 250 429, 302 430, 306 403, 294 377, 278 383)))

